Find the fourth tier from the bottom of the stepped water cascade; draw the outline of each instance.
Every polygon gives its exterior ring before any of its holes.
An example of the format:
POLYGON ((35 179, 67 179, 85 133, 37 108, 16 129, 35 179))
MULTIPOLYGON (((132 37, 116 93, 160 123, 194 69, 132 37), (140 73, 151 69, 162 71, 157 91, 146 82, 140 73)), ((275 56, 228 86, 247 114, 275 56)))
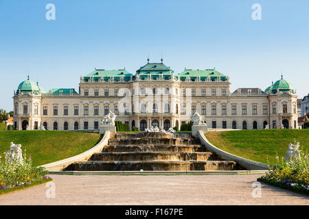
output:
POLYGON ((183 138, 128 138, 128 139, 110 139, 108 140, 108 145, 118 145, 118 144, 201 144, 201 142, 194 139, 183 139, 183 138))

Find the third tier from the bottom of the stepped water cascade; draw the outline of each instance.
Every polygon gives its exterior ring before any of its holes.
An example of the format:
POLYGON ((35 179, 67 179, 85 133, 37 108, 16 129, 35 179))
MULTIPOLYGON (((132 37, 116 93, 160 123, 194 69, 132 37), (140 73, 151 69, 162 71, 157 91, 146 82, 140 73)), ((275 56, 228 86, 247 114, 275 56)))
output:
POLYGON ((104 146, 102 152, 206 152, 199 144, 117 144, 104 146))

